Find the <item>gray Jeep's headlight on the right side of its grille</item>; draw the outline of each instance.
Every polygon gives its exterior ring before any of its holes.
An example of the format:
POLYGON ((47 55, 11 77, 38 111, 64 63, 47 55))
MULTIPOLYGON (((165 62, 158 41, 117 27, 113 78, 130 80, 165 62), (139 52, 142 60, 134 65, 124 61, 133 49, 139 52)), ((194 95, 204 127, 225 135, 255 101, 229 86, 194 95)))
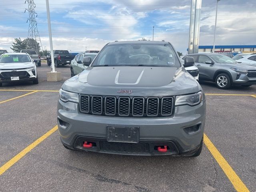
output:
POLYGON ((198 92, 190 95, 179 95, 176 96, 175 105, 189 105, 195 106, 205 99, 203 92, 198 92))

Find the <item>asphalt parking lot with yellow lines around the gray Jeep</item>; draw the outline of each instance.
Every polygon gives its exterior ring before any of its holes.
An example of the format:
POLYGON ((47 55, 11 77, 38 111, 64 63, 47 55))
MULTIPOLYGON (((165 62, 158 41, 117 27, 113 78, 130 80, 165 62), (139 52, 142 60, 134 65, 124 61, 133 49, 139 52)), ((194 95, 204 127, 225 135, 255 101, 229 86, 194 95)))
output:
POLYGON ((220 90, 202 82, 207 99, 205 145, 199 157, 118 156, 66 150, 56 131, 61 82, 0 88, 0 192, 256 191, 256 86, 220 90), (26 91, 22 91, 26 90, 26 91))

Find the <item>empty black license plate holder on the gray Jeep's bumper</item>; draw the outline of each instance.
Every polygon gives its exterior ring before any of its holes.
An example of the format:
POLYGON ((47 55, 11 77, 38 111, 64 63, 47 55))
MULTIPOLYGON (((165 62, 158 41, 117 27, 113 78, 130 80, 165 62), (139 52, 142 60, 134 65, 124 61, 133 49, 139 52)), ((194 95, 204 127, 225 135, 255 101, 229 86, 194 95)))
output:
POLYGON ((139 136, 139 127, 107 126, 108 142, 138 143, 139 136))

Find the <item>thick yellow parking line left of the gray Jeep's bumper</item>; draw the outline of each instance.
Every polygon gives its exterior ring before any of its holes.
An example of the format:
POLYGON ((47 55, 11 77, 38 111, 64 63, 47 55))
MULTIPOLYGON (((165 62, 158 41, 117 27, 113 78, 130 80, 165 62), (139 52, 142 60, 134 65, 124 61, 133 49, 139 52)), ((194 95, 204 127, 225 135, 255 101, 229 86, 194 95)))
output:
POLYGON ((20 160, 22 157, 24 157, 28 152, 30 152, 33 148, 35 148, 38 144, 40 144, 43 140, 48 138, 51 134, 53 134, 58 129, 58 126, 56 125, 54 128, 52 128, 50 131, 48 131, 46 134, 35 140, 32 144, 27 146, 24 150, 22 150, 20 153, 18 153, 16 156, 14 156, 12 159, 10 159, 8 162, 6 162, 3 166, 0 167, 0 175, 2 175, 6 170, 8 170, 11 166, 13 166, 18 160, 20 160))

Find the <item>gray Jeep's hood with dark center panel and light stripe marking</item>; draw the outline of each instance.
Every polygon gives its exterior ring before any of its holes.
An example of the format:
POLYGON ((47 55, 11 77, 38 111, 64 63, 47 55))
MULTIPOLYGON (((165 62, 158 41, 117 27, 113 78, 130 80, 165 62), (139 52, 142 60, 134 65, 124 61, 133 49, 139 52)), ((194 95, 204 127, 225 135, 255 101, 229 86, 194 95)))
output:
POLYGON ((131 96, 169 96, 201 90, 183 67, 144 66, 88 67, 67 80, 62 88, 82 94, 131 96), (118 90, 132 90, 132 93, 118 93, 118 90))

